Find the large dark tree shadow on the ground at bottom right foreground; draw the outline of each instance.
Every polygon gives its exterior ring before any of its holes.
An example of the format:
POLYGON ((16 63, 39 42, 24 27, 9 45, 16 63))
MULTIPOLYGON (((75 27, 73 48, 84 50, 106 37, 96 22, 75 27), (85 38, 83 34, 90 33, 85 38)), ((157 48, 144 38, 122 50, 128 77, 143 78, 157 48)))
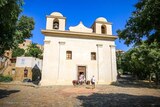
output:
POLYGON ((128 94, 99 94, 78 96, 83 107, 160 107, 160 97, 128 94))

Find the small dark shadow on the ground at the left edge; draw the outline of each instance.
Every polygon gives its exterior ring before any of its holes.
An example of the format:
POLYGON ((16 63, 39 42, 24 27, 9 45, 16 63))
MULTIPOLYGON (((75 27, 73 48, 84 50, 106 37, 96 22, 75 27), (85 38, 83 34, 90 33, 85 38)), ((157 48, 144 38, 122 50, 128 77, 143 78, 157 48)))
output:
POLYGON ((8 97, 10 94, 20 92, 20 90, 5 90, 0 89, 0 99, 4 97, 8 97))

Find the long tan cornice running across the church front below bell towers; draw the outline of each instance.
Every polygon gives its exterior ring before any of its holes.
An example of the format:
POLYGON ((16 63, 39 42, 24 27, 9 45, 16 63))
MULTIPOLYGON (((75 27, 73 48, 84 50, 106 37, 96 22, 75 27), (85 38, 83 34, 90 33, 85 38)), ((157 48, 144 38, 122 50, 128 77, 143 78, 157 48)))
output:
POLYGON ((111 40, 114 41, 118 37, 106 34, 96 33, 84 33, 84 32, 71 32, 71 31, 60 31, 60 30, 41 30, 45 36, 53 37, 68 37, 68 38, 84 38, 84 39, 96 39, 96 40, 111 40))

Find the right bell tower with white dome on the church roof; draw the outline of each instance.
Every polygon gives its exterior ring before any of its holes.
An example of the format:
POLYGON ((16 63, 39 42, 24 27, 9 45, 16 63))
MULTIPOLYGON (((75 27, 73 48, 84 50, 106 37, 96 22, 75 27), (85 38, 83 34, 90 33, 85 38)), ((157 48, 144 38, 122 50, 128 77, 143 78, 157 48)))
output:
POLYGON ((104 17, 97 18, 92 29, 97 34, 112 35, 112 24, 107 22, 104 17))

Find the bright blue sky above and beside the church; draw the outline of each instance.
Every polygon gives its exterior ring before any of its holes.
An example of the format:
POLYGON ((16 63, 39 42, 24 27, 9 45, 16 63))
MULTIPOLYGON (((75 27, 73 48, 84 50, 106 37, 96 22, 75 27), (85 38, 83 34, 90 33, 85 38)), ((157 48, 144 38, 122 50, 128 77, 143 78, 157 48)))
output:
MULTIPOLYGON (((76 26, 80 21, 87 27, 91 27, 98 17, 105 17, 113 24, 113 35, 116 30, 123 29, 126 21, 135 9, 134 4, 138 0, 24 0, 23 15, 33 17, 35 29, 31 40, 34 43, 43 44, 44 35, 41 29, 46 27, 46 15, 52 12, 60 12, 66 17, 66 30, 69 26, 76 26)), ((116 48, 128 50, 123 41, 116 40, 116 48)))

